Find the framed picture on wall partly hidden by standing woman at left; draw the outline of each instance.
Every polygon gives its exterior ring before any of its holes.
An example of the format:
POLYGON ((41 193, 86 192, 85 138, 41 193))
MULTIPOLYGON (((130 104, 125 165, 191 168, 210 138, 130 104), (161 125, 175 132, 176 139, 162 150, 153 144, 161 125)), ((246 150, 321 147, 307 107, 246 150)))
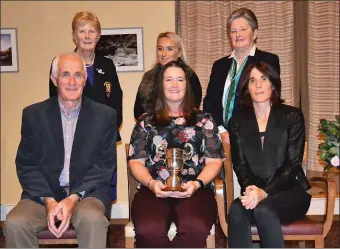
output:
POLYGON ((144 71, 143 28, 102 29, 96 54, 111 59, 117 72, 144 71))

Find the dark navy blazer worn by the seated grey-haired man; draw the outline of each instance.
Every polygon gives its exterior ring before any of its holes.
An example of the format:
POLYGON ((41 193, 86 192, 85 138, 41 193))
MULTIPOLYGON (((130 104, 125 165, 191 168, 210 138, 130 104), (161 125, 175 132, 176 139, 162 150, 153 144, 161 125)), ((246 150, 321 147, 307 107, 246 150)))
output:
MULTIPOLYGON (((116 111, 83 98, 70 159, 70 194, 100 199, 110 210, 111 178, 117 166, 116 111)), ((64 141, 57 97, 26 107, 16 167, 21 199, 41 203, 39 197, 61 201, 66 192, 59 177, 64 167, 64 141)))

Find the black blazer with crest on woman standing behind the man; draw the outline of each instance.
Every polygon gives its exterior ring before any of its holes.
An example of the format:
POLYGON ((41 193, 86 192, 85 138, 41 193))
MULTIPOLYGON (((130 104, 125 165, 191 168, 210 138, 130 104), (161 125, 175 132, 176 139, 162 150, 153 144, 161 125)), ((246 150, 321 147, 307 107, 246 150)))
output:
MULTIPOLYGON (((51 79, 49 83, 49 89, 50 97, 58 95, 57 87, 53 84, 51 79)), ((116 67, 112 60, 101 55, 96 55, 94 58, 94 83, 92 86, 89 79, 86 80, 83 96, 115 109, 117 112, 117 127, 119 129, 123 121, 123 91, 120 87, 116 67), (98 70, 104 74, 98 72, 98 70), (111 95, 109 97, 106 96, 106 87, 104 85, 105 82, 111 83, 111 95)), ((121 141, 119 131, 117 134, 117 141, 121 141)))

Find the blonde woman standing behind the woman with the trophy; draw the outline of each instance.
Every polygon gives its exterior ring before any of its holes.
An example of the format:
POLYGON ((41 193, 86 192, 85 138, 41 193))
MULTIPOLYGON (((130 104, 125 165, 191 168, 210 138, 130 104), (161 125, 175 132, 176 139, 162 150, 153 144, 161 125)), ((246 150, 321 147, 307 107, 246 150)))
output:
MULTIPOLYGON (((181 37, 173 32, 160 33, 157 37, 157 57, 153 68, 143 75, 139 85, 135 106, 134 117, 138 119, 140 115, 147 112, 151 105, 155 81, 162 67, 170 61, 182 60, 188 64, 184 42, 181 37)), ((190 69, 190 84, 194 95, 195 107, 199 108, 202 100, 202 87, 196 73, 190 69)), ((156 97, 156 96, 155 96, 156 97)))

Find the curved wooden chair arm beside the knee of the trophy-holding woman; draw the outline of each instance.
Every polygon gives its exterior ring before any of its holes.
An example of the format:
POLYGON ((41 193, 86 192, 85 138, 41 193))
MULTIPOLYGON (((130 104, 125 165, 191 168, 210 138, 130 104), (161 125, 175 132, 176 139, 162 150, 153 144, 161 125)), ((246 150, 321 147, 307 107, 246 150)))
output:
POLYGON ((216 178, 215 181, 215 198, 217 202, 217 213, 218 219, 220 221, 221 228, 225 234, 228 235, 228 226, 227 226, 227 205, 226 205, 226 195, 225 195, 225 184, 222 179, 216 178))

